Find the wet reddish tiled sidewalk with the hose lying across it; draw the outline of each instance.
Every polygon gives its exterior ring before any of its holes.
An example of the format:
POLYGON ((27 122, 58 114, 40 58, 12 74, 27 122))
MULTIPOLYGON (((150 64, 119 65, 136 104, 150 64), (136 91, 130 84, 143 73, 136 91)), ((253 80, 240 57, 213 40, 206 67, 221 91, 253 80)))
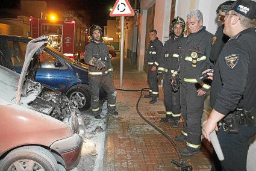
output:
MULTIPOLYGON (((114 84, 119 88, 119 56, 112 59, 114 69, 114 84)), ((133 69, 129 59, 123 61, 122 89, 142 89, 148 87, 146 73, 133 69)), ((152 126, 148 125, 137 113, 136 103, 140 92, 117 91, 117 111, 119 116, 108 117, 107 140, 105 144, 105 170, 180 170, 170 163, 178 161, 178 155, 172 144, 152 126)), ((139 110, 147 119, 174 138, 182 131, 182 123, 178 128, 172 128, 170 123, 160 122, 164 117, 163 90, 155 104, 149 104, 150 99, 142 98, 139 110)), ((179 149, 185 148, 185 143, 176 141, 179 149)), ((184 157, 186 164, 193 170, 210 170, 211 154, 202 146, 202 152, 193 157, 184 157)))

